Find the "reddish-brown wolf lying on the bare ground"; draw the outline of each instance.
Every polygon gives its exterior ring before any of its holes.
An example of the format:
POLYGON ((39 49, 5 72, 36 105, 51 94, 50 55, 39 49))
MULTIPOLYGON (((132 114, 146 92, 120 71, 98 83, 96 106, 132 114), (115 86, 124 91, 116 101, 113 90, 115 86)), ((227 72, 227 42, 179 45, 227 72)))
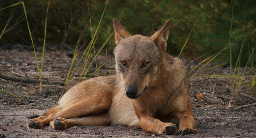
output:
POLYGON ((196 134, 186 66, 165 52, 170 21, 151 37, 132 36, 116 18, 113 26, 116 75, 74 85, 27 128, 119 124, 155 134, 196 134))

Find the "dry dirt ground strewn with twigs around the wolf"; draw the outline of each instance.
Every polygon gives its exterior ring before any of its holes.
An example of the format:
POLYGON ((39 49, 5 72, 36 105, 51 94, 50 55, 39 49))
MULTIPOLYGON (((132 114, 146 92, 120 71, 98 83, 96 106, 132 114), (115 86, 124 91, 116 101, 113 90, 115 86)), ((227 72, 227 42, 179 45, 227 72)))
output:
MULTIPOLYGON (((42 49, 37 49, 38 61, 41 64, 42 49)), ((44 80, 65 81, 71 61, 72 50, 61 46, 47 46, 43 61, 44 80), (50 47, 50 48, 49 48, 50 47)), ((97 57, 97 65, 105 64, 106 51, 102 51, 97 57)), ((78 57, 81 55, 78 55, 78 57)), ((185 59, 185 58, 184 58, 185 59)), ((186 60, 186 59, 185 59, 186 60)), ((77 63, 79 59, 75 62, 77 63)), ((108 52, 107 66, 99 69, 99 75, 105 75, 111 71, 114 56, 108 52)), ((187 64, 190 60, 187 60, 187 64)), ((95 67, 95 63, 92 64, 95 67)), ((191 70, 196 63, 188 65, 191 70)), ((209 65, 209 68, 214 65, 209 65)), ((200 66, 199 66, 200 67, 200 66)), ((91 75, 95 71, 89 71, 91 75)), ((79 71, 78 71, 79 72, 79 71)), ((195 71, 193 71, 195 72, 195 71)), ((193 74, 192 72, 192 74, 193 74)), ((0 73, 30 79, 37 79, 36 61, 31 46, 5 45, 0 47, 0 73)), ((112 72, 113 74, 113 72, 112 72)), ((207 70, 201 74, 229 75, 228 67, 220 67, 207 70)), ((93 75, 95 77, 96 75, 93 75)), ((78 83, 78 77, 73 77, 68 88, 78 83)), ((67 90, 66 89, 66 90, 67 90)), ((234 110, 233 108, 256 103, 255 92, 245 85, 238 97, 234 89, 229 97, 229 79, 221 77, 209 77, 198 75, 190 81, 191 106, 195 118, 195 128, 198 134, 195 135, 155 135, 143 132, 141 129, 125 126, 78 126, 71 127, 64 131, 54 130, 51 127, 42 129, 27 129, 26 125, 29 115, 42 115, 47 109, 54 106, 59 98, 65 93, 62 85, 38 83, 24 83, 0 78, 0 138, 141 138, 141 137, 256 137, 256 108, 234 110), (33 91, 31 91, 33 90, 33 91), (197 98, 202 94, 203 98, 197 98), (24 97, 25 96, 25 97, 24 97), (21 98, 24 97, 24 98, 21 98)))

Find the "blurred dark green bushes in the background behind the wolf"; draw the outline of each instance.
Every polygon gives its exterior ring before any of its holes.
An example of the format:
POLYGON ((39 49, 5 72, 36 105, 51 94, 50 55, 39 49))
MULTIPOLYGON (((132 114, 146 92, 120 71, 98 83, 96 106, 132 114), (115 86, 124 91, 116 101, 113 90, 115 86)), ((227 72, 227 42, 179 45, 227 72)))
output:
MULTIPOLYGON (((2 1, 0 8, 17 2, 19 1, 2 1)), ((30 29, 33 30, 33 39, 37 45, 42 45, 43 43, 47 2, 24 0, 30 29)), ((252 46, 255 45, 256 16, 254 11, 256 9, 256 1, 233 0, 232 2, 234 19, 240 23, 233 23, 232 26, 233 57, 239 54, 241 41, 248 39, 242 55, 242 60, 247 60, 249 57, 247 49, 252 49, 252 46), (246 31, 241 32, 241 29, 246 31), (244 37, 239 37, 241 35, 244 37)), ((60 44, 63 42, 72 22, 65 44, 75 45, 80 33, 90 21, 89 10, 91 16, 93 15, 92 29, 95 31, 105 4, 106 0, 51 0, 47 19, 46 43, 60 44)), ((1 30, 3 30, 12 10, 13 8, 8 8, 0 11, 1 30)), ((14 13, 15 15, 7 29, 25 18, 21 5, 15 6, 14 13)), ((180 53, 195 22, 195 28, 183 50, 184 56, 193 59, 219 46, 211 53, 214 54, 229 44, 230 20, 228 18, 232 14, 231 0, 109 0, 105 15, 107 14, 107 19, 95 44, 96 46, 100 46, 113 32, 112 20, 113 18, 120 19, 121 14, 121 23, 132 35, 151 36, 166 20, 170 19, 171 28, 167 41, 167 52, 171 54, 180 53)), ((85 42, 90 36, 91 31, 87 27, 82 42, 85 42)), ((0 40, 0 46, 5 43, 27 45, 31 43, 25 20, 3 35, 0 40)), ((109 41, 108 45, 111 48, 115 46, 114 37, 109 41)), ((229 50, 223 51, 219 59, 220 61, 229 61, 227 57, 229 57, 229 50)))

